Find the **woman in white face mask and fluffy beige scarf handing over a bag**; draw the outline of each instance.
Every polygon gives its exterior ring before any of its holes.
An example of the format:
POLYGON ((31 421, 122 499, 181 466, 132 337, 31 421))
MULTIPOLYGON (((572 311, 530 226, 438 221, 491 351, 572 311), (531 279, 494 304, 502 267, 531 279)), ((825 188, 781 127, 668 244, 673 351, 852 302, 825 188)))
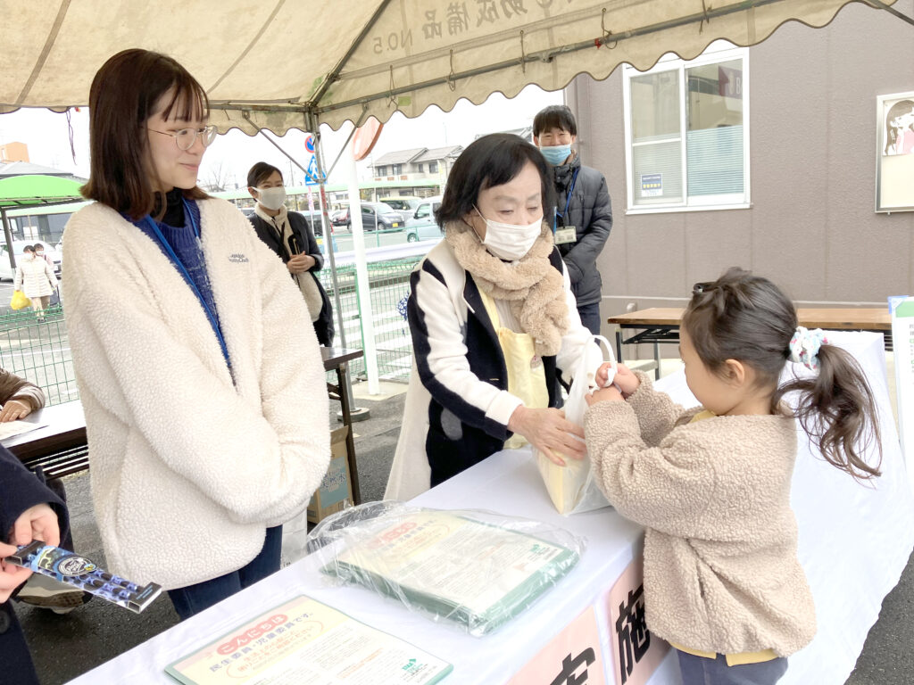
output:
MULTIPOLYGON (((552 240, 543 155, 494 133, 454 163, 436 212, 444 240, 410 278, 414 369, 386 497, 407 500, 500 449, 527 443, 559 465, 581 458, 559 377, 600 349, 581 325, 552 240)), ((599 374, 602 374, 601 376, 599 374)))

